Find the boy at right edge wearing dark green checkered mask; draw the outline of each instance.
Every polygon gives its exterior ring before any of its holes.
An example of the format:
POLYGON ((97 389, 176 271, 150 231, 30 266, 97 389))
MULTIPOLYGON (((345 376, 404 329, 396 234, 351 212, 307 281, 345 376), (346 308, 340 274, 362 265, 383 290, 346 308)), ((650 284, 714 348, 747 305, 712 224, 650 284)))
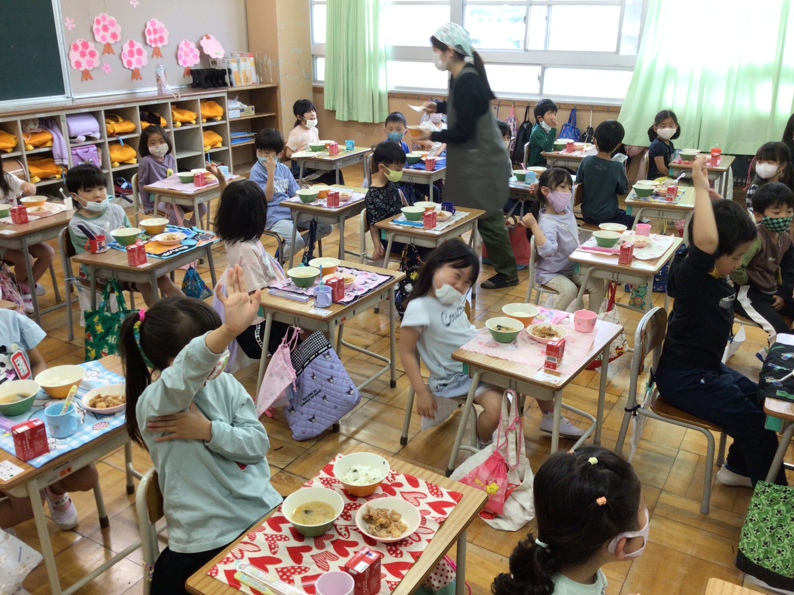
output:
POLYGON ((794 317, 794 248, 788 235, 794 215, 794 192, 781 182, 769 182, 753 195, 758 236, 742 256, 742 266, 730 274, 737 288, 736 310, 769 333, 790 332, 783 317, 794 317))

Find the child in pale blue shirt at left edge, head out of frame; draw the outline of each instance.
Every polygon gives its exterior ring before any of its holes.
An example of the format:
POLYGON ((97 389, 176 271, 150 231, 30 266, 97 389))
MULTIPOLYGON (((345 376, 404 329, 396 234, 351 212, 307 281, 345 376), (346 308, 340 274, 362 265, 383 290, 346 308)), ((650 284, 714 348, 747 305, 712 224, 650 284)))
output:
MULTIPOLYGON (((0 385, 5 382, 19 380, 17 367, 30 370, 29 379, 47 369, 47 363, 36 348, 47 336, 38 324, 28 317, 21 316, 13 310, 0 309, 0 363, 2 376, 0 385), (24 363, 17 363, 18 353, 24 363)), ((24 371, 22 372, 24 374, 24 371)), ((44 498, 50 509, 52 522, 64 531, 77 526, 77 509, 68 492, 87 492, 94 489, 99 476, 93 463, 68 474, 63 479, 44 488, 44 498)), ((33 508, 28 497, 15 497, 0 492, 0 529, 13 535, 13 526, 33 518, 33 508)))

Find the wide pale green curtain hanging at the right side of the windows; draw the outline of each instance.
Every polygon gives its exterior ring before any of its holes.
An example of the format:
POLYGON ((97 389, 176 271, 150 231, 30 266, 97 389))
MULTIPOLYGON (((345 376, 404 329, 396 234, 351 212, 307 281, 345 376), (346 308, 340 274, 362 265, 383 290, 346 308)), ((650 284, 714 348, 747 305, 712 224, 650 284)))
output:
POLYGON ((619 121, 626 144, 647 146, 661 109, 673 109, 676 148, 752 155, 781 140, 794 111, 791 0, 652 0, 619 121), (786 44, 786 37, 789 37, 786 44))

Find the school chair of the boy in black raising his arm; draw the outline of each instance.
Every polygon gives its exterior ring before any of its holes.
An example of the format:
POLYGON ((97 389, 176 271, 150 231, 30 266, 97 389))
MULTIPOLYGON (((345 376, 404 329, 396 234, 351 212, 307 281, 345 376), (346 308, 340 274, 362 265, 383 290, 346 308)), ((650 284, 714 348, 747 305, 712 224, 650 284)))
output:
POLYGON ((649 353, 653 355, 653 363, 650 370, 650 376, 653 378, 654 370, 656 370, 659 363, 661 344, 665 340, 666 331, 667 313, 664 308, 659 308, 658 306, 642 317, 642 320, 637 324, 637 330, 634 331, 634 354, 631 356, 629 397, 624 410, 625 413, 623 413, 622 424, 620 424, 618 441, 615 443, 615 452, 622 455, 626 431, 633 415, 643 415, 653 420, 665 421, 668 424, 702 433, 703 436, 706 436, 708 446, 706 449, 706 471, 703 476, 703 499, 700 502, 700 512, 708 514, 709 501, 711 501, 711 474, 714 470, 714 436, 711 432, 719 432, 717 466, 722 466, 725 461, 725 441, 727 437, 725 432, 723 432, 723 428, 673 407, 659 394, 655 384, 648 401, 637 402, 637 386, 646 356, 649 353))

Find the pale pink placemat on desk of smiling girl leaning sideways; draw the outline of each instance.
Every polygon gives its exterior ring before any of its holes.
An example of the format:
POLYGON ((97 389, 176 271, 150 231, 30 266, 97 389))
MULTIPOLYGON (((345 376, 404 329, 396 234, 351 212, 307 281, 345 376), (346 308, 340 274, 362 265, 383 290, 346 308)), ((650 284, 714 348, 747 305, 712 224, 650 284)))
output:
MULTIPOLYGON (((584 356, 592 347, 596 333, 576 331, 572 322, 561 324, 561 326, 568 330, 568 335, 565 336, 565 357, 562 360, 562 366, 557 371, 560 374, 568 375, 579 369, 584 356)), ((518 333, 512 343, 497 343, 488 328, 480 328, 476 336, 461 348, 522 363, 526 366, 542 368, 545 363, 545 344, 530 339, 526 328, 518 333)))

